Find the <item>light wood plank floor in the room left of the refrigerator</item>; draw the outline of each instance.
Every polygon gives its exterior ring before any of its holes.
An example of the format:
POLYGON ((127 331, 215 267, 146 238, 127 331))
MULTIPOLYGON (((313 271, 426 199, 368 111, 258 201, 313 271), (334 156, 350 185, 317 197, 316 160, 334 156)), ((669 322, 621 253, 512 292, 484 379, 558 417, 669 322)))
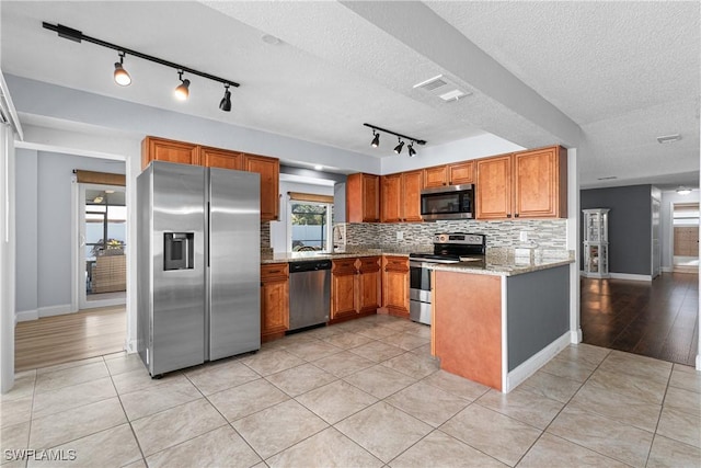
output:
POLYGON ((117 353, 127 329, 125 306, 89 309, 18 323, 15 372, 117 353))

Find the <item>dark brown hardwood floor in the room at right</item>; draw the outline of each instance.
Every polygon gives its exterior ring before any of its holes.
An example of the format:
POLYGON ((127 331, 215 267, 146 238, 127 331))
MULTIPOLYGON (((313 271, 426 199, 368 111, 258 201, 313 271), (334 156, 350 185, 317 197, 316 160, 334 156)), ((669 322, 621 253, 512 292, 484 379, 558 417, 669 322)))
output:
POLYGON ((694 365, 699 349, 699 275, 663 273, 652 283, 582 278, 587 344, 694 365))

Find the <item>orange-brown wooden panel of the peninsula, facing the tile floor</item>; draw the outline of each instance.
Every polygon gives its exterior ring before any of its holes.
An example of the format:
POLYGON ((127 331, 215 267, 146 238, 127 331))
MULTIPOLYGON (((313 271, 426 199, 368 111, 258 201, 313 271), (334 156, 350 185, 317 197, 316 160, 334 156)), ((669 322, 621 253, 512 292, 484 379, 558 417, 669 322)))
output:
POLYGON ((440 368, 502 390, 502 277, 435 274, 433 332, 440 368))

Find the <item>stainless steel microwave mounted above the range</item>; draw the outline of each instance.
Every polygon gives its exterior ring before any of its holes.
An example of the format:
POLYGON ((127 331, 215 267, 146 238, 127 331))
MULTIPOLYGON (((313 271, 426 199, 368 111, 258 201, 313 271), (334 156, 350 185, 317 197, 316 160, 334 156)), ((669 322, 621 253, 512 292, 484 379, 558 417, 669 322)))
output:
POLYGON ((421 192, 421 216, 426 221, 473 219, 474 185, 446 185, 421 192))

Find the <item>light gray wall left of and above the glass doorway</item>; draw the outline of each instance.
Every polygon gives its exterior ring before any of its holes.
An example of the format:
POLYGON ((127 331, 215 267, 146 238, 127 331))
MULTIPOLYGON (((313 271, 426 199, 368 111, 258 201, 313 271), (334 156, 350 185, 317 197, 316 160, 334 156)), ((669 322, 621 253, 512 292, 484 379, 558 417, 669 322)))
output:
POLYGON ((125 173, 120 161, 16 151, 18 312, 71 304, 73 169, 125 173))

